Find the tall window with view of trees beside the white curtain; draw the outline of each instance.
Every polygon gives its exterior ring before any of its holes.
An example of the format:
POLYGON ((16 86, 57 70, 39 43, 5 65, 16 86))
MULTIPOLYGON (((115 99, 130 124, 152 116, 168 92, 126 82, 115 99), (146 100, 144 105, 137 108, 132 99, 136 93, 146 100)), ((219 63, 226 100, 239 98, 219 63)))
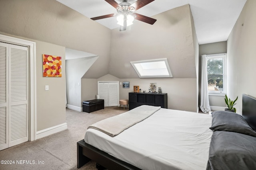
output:
POLYGON ((226 93, 226 53, 206 55, 208 74, 208 93, 226 93))

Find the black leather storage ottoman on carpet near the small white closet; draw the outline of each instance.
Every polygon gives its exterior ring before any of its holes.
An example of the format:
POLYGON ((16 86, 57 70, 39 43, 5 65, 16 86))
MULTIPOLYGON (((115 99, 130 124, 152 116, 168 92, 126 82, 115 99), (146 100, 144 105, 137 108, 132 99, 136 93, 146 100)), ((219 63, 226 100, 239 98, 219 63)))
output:
POLYGON ((83 102, 83 111, 90 113, 92 111, 104 109, 103 99, 94 99, 83 102))

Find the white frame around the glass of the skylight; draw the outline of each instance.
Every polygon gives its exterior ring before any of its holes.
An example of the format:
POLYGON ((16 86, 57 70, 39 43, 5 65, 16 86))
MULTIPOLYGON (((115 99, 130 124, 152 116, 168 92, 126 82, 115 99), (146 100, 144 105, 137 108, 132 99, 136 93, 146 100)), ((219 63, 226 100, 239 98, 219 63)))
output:
MULTIPOLYGON (((168 63, 167 59, 153 59, 153 60, 144 60, 144 61, 132 61, 130 62, 134 68, 134 70, 136 71, 136 73, 138 74, 138 76, 140 78, 171 78, 172 77, 172 72, 168 63), (165 65, 166 65, 166 69, 168 71, 168 75, 143 75, 139 69, 137 69, 136 64, 144 64, 144 63, 150 63, 150 62, 162 62, 164 61, 165 65)), ((152 68, 152 69, 148 69, 153 71, 156 68, 152 68)), ((146 70, 146 69, 145 69, 146 70)), ((144 70, 142 70, 144 71, 144 70)))

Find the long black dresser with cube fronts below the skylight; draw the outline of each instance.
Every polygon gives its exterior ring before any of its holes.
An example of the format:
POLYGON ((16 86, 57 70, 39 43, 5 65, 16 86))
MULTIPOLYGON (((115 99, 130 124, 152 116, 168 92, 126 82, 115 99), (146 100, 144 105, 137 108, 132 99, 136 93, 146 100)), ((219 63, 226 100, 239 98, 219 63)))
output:
POLYGON ((129 93, 129 110, 142 106, 161 106, 167 109, 167 93, 129 93))

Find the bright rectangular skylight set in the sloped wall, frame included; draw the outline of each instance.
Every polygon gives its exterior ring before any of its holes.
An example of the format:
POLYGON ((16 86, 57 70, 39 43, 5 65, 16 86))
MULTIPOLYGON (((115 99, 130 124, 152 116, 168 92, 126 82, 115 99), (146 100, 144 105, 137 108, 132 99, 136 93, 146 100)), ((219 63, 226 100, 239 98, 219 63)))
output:
POLYGON ((172 77, 167 59, 130 62, 140 78, 172 77))

